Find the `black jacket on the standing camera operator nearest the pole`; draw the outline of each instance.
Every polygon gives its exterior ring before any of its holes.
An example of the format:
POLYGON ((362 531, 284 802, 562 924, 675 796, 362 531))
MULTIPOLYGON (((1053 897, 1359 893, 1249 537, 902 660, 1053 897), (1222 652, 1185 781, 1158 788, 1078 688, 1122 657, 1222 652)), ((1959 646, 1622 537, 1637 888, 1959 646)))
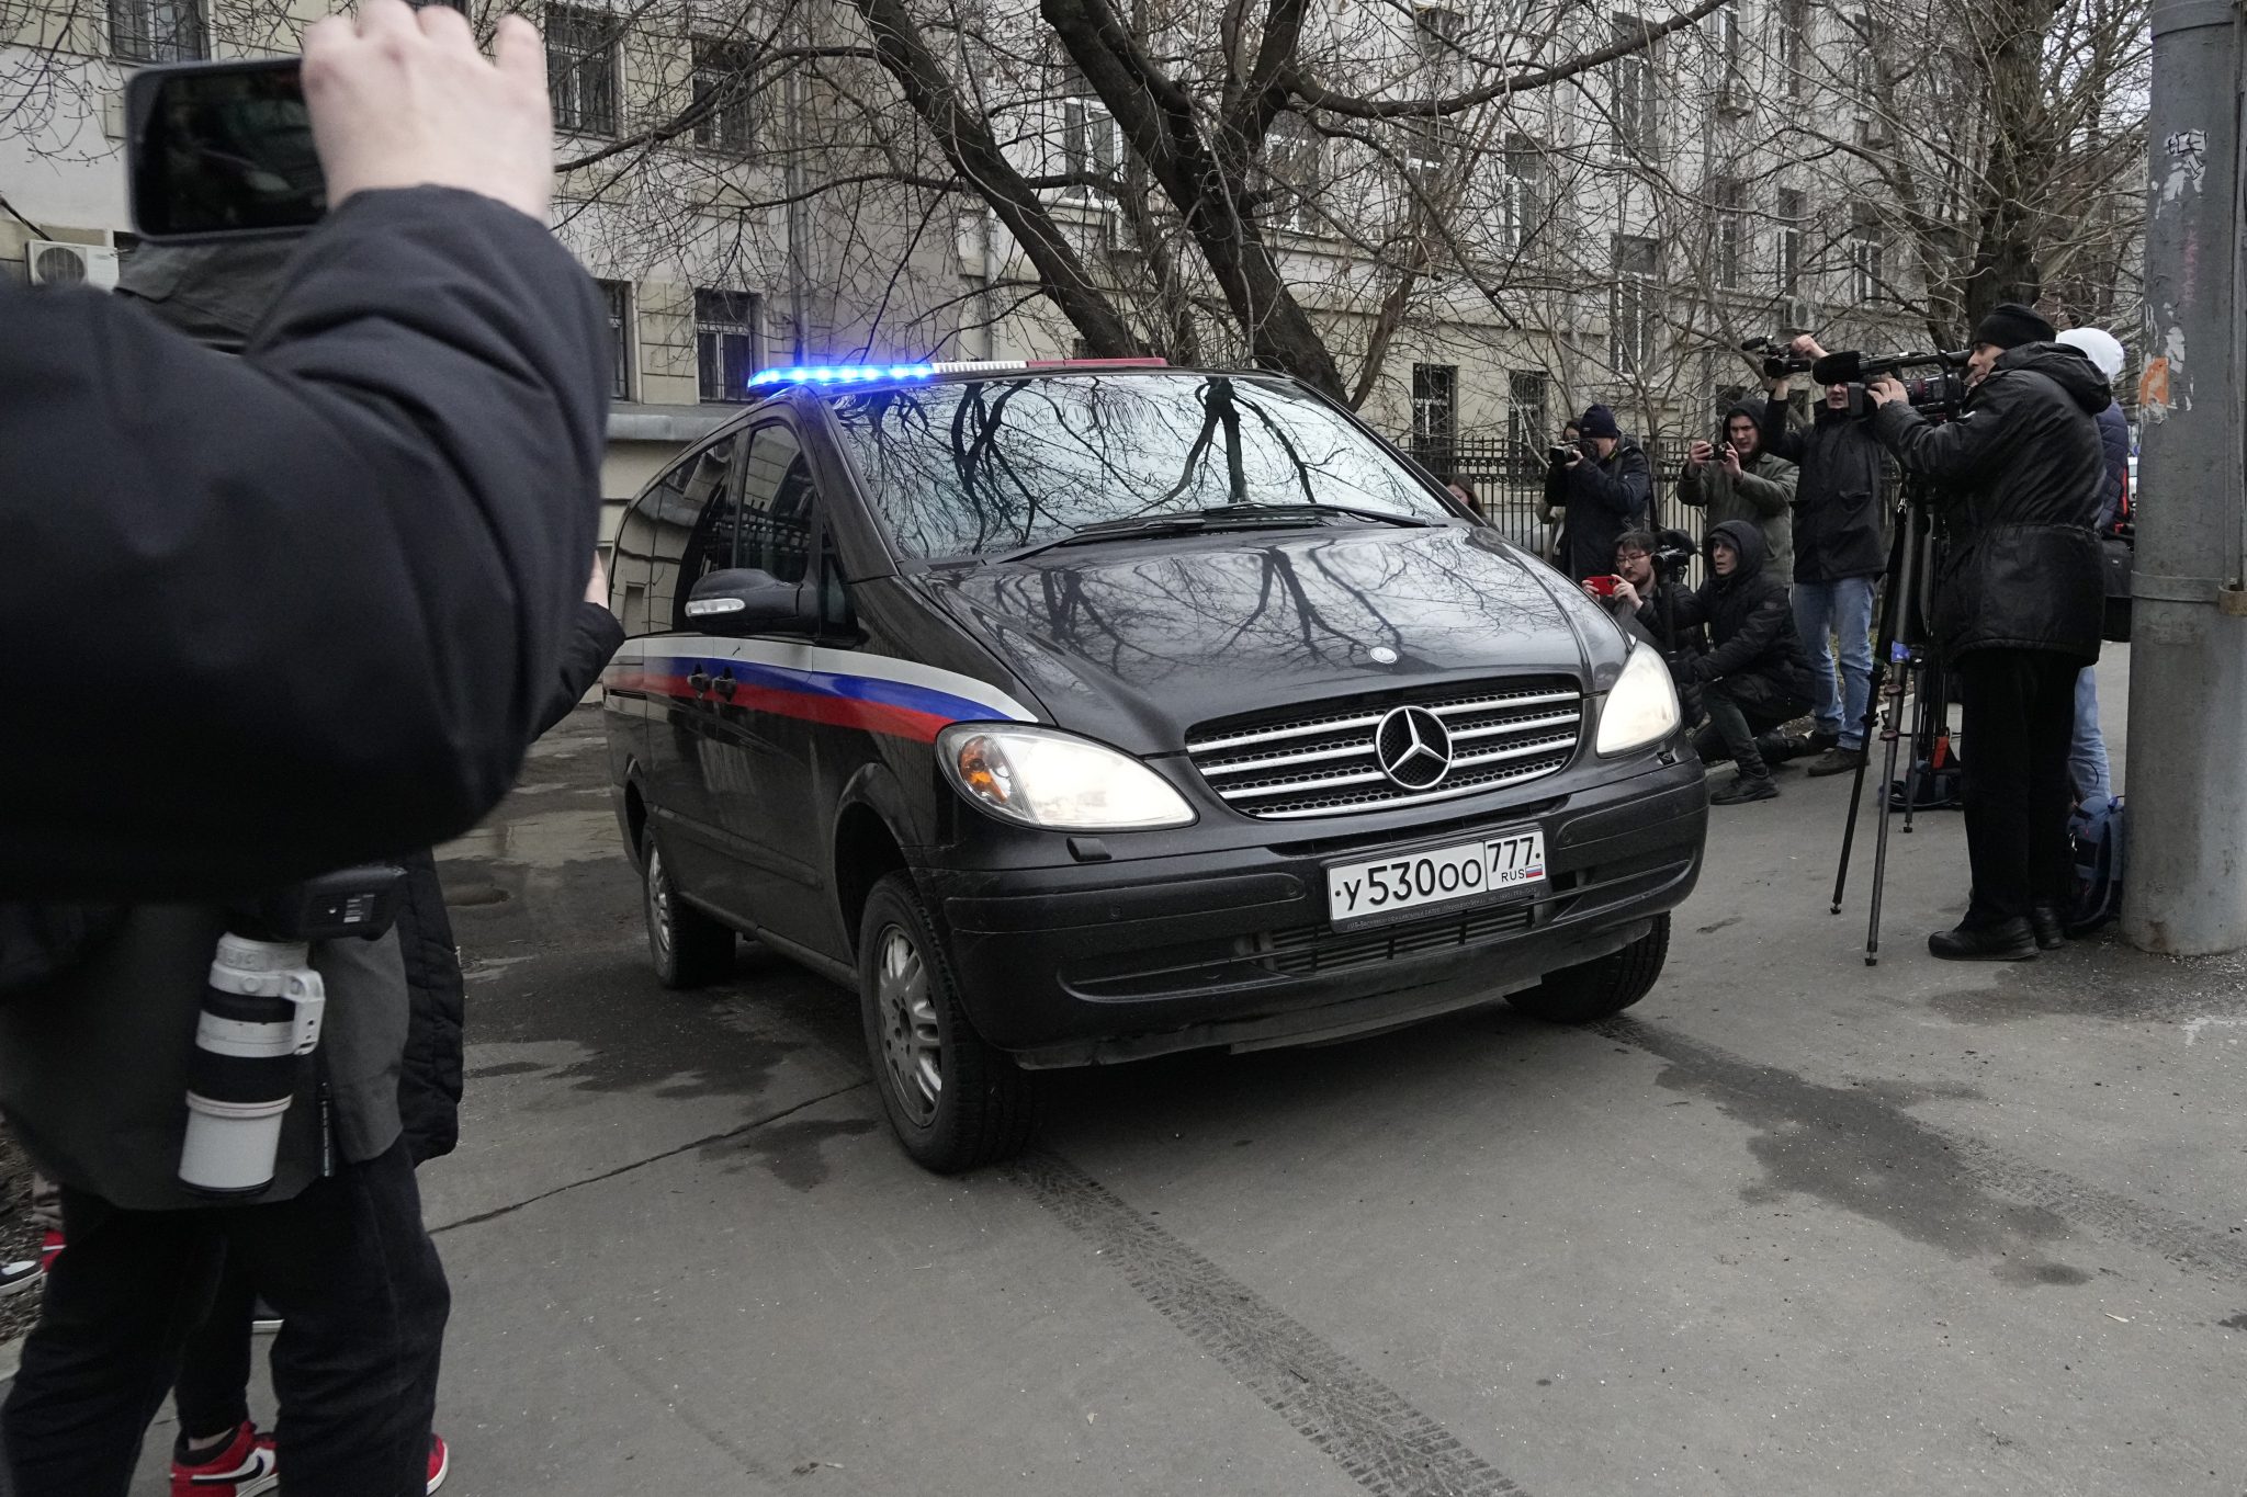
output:
POLYGON ((2108 469, 2096 413, 2105 377, 2065 343, 2007 350, 1955 422, 1890 402, 1872 429, 1935 483, 1950 543, 1935 577, 1935 642, 2099 660, 2105 610, 2099 521, 2108 469))

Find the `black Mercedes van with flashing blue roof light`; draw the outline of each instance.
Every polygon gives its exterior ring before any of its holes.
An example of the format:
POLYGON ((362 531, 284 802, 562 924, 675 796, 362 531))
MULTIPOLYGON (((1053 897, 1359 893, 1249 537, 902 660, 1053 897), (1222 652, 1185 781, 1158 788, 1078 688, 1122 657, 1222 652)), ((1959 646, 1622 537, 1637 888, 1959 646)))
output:
POLYGON ((1663 660, 1276 375, 768 370, 652 483, 604 680, 656 976, 858 992, 930 1169, 1038 1077, 1636 1003, 1701 871, 1663 660))

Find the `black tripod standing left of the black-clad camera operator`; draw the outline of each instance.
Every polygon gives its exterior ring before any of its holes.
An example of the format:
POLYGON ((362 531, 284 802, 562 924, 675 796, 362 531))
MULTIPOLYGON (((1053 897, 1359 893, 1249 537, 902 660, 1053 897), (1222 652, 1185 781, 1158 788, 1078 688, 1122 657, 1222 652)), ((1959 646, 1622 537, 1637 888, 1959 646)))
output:
POLYGON ((1887 550, 1887 597, 1881 601, 1881 633, 1872 651, 1872 682, 1865 691, 1863 745, 1849 788, 1849 819, 1840 833, 1840 866, 1834 869, 1834 913, 1849 884, 1849 851, 1856 846, 1856 812, 1865 803, 1865 768, 1872 763, 1872 729, 1881 727, 1881 826, 1872 851, 1872 918, 1865 925, 1865 965, 1881 963, 1881 893, 1887 887, 1887 821, 1894 810, 1896 750, 1912 741, 1912 759, 1903 770, 1903 830, 1912 830, 1919 806, 1921 765, 1941 772, 1950 745, 1948 705, 1941 691, 1941 667, 1928 658, 1921 619, 1932 613, 1935 532, 1926 521, 1928 505, 1917 483, 1908 483, 1894 512, 1894 541, 1887 550), (1917 613, 1914 613, 1917 608, 1917 613), (1903 696, 1912 694, 1912 729, 1903 732, 1903 696), (1881 698, 1890 698, 1881 711, 1881 698))

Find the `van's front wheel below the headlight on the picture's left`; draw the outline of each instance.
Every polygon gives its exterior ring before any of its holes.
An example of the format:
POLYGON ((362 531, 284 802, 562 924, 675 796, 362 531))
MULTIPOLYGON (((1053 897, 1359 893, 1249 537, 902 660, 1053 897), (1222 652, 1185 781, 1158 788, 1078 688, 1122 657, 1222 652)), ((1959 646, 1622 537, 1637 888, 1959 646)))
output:
POLYGON ((1045 1089, 968 1023, 941 931, 910 873, 858 920, 858 1019, 890 1131, 912 1163, 959 1174, 1020 1154, 1045 1089))

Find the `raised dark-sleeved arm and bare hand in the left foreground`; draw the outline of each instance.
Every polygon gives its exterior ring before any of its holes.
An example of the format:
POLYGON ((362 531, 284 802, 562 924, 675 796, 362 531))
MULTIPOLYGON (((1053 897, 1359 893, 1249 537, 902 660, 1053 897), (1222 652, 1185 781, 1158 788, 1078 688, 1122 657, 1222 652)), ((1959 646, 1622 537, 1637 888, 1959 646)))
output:
POLYGON ((245 359, 0 285, 0 896, 288 882, 449 837, 521 765, 609 361, 546 229, 544 47, 369 0, 306 31, 306 94, 335 209, 245 359))

